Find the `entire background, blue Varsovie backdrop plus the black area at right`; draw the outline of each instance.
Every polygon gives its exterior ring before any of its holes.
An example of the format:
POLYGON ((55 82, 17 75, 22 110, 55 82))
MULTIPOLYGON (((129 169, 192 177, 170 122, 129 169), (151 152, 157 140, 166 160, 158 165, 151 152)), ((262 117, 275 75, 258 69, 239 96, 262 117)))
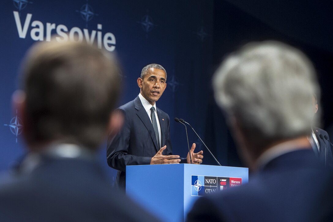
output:
MULTIPOLYGON (((322 87, 322 127, 332 138, 332 11, 333 1, 3 0, 0 170, 8 169, 25 151, 21 135, 16 136, 21 132, 21 122, 11 109, 20 61, 37 39, 47 40, 49 33, 58 33, 61 39, 76 33, 83 41, 95 37, 101 48, 106 46, 118 55, 124 86, 119 105, 139 94, 136 79, 145 65, 163 65, 167 87, 157 106, 171 120, 178 117, 191 123, 225 166, 241 163, 214 102, 211 76, 221 59, 244 43, 266 39, 286 42, 303 50, 314 62, 322 87)), ((185 129, 174 121, 170 127, 173 152, 185 157, 185 129)), ((198 150, 203 149, 204 164, 215 164, 191 131, 189 140, 197 143, 198 150)), ((115 171, 106 163, 106 144, 101 148, 101 163, 113 176, 115 171)))

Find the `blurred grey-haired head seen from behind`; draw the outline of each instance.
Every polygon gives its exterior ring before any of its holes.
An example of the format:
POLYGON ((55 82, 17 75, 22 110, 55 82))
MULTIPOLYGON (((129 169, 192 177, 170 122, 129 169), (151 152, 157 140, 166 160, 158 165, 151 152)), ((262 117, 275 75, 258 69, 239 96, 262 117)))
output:
POLYGON ((319 86, 301 51, 275 41, 247 44, 223 61, 213 87, 249 167, 279 143, 308 143, 319 86))

